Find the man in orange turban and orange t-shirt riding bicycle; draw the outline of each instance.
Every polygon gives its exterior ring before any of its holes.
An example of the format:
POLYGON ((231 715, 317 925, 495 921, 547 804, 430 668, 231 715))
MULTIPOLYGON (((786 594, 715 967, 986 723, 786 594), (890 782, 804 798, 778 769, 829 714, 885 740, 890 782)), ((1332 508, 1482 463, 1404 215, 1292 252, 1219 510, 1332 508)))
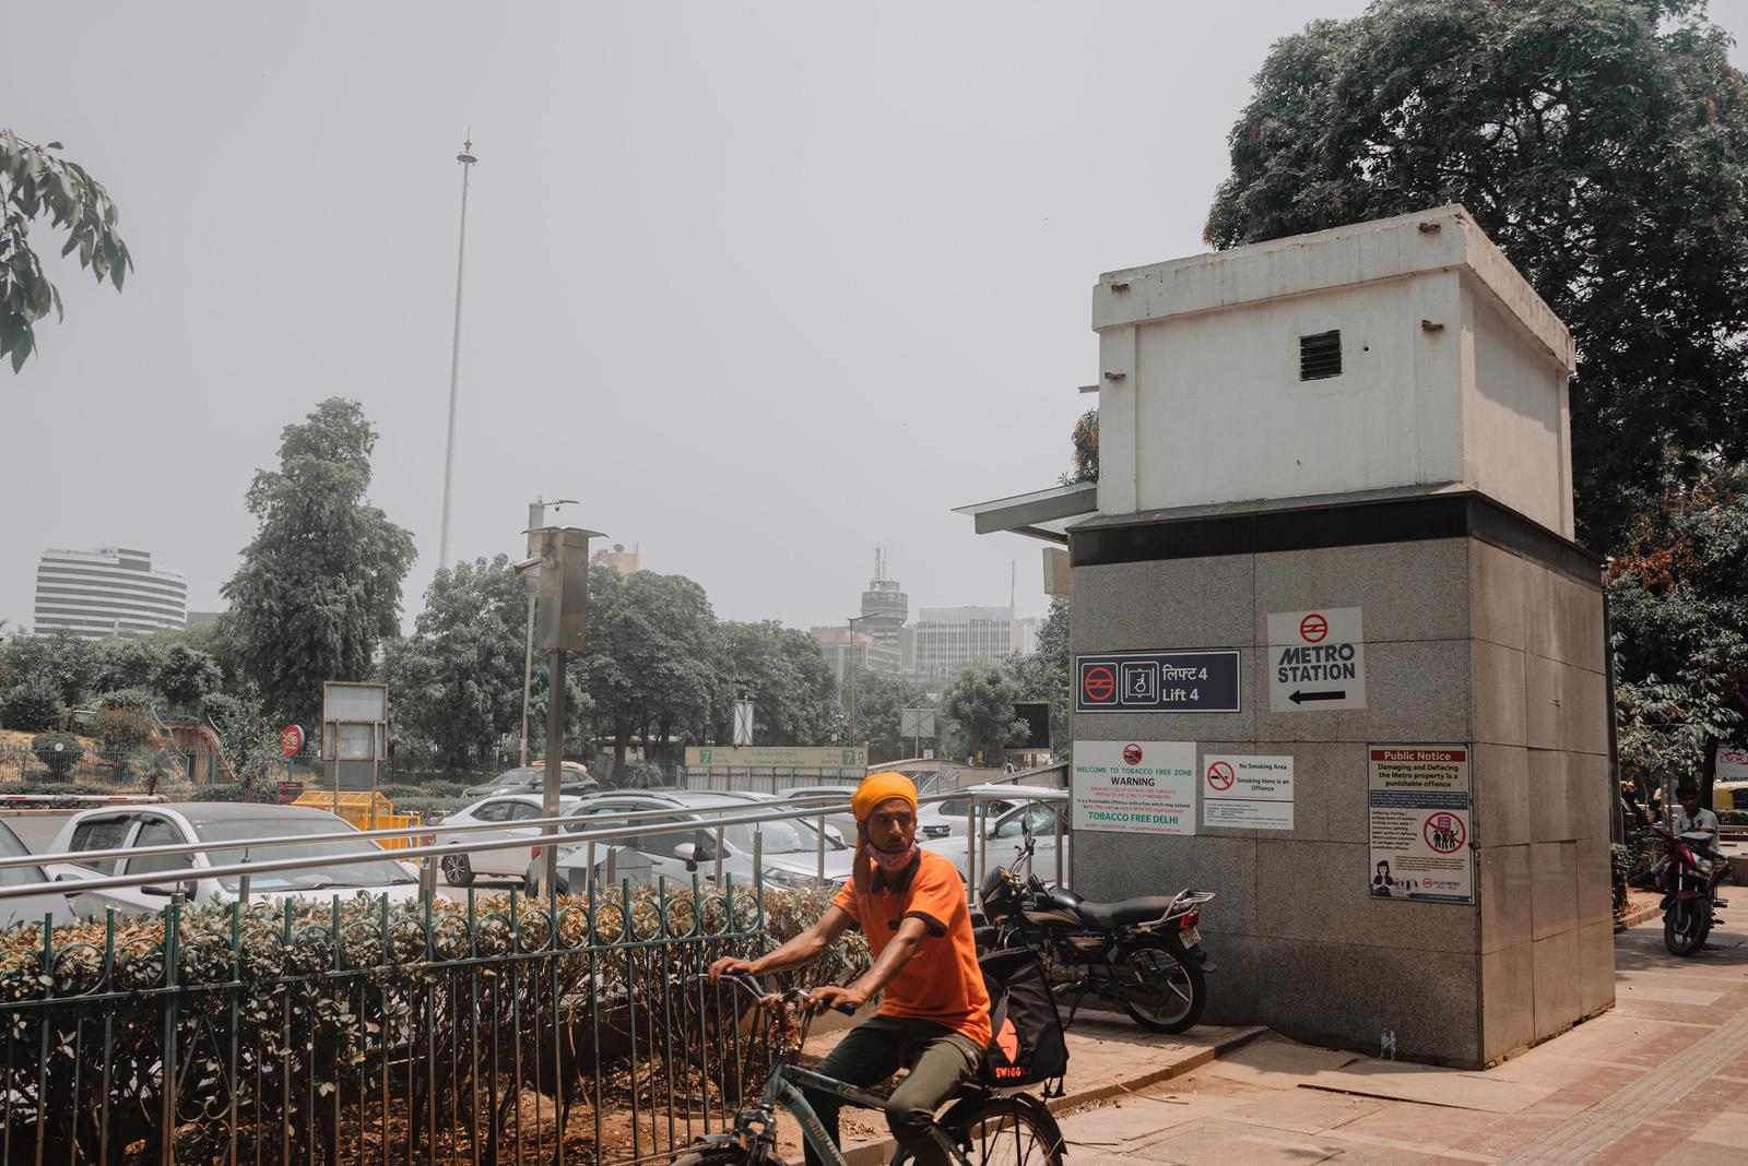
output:
MULTIPOLYGON (((725 957, 711 964, 710 974, 785 972, 816 960, 844 930, 860 927, 874 965, 848 986, 815 988, 808 1002, 825 1011, 884 997, 874 1019, 851 1030, 818 1072, 872 1086, 909 1065, 911 1073, 886 1101, 886 1126, 918 1166, 947 1166, 946 1147, 930 1133, 933 1114, 972 1079, 989 1044, 989 993, 977 969, 965 885, 953 862, 916 845, 911 778, 874 773, 857 787, 851 808, 855 876, 825 915, 776 951, 757 960, 725 957)), ((836 1142, 841 1101, 815 1091, 808 1101, 836 1142)), ((808 1163, 823 1166, 813 1147, 808 1163)))

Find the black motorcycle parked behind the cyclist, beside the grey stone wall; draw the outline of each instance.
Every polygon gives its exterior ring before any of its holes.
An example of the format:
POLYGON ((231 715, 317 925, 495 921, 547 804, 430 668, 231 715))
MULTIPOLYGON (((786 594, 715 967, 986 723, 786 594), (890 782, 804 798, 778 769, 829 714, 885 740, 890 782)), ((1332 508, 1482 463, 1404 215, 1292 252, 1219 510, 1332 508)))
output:
POLYGON ((1049 887, 1031 873, 1033 838, 1026 833, 1014 866, 984 874, 977 899, 993 946, 1030 948, 1068 1021, 1086 997, 1119 1004, 1141 1028, 1183 1032, 1208 1002, 1197 922, 1210 890, 1091 902, 1066 887, 1049 887), (1024 868, 1024 876, 1016 868, 1024 868))

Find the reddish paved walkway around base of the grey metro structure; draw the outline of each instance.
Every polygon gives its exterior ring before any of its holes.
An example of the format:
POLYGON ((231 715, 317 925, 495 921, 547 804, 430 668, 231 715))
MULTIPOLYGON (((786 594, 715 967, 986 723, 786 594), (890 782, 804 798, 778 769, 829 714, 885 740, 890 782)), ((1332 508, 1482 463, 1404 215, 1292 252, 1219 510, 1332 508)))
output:
MULTIPOLYGON (((1748 920, 1743 902, 1725 909, 1748 920)), ((1615 937, 1615 1007, 1488 1072, 1269 1035, 1063 1119, 1073 1166, 1748 1161, 1748 927, 1680 960, 1615 937)))

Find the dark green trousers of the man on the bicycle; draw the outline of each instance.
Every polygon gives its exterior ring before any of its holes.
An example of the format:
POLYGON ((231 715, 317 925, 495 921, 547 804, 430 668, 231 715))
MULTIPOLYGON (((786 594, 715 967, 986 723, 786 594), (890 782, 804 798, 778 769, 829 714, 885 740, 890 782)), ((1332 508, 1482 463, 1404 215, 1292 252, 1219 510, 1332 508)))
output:
MULTIPOLYGON (((876 1016, 850 1030, 820 1063, 818 1072, 851 1086, 872 1087, 897 1073, 900 1065, 909 1065, 911 1073, 886 1101, 886 1128, 918 1166, 947 1166, 947 1152, 928 1129, 935 1110, 982 1065, 982 1049, 970 1037, 932 1021, 876 1016)), ((811 1089, 804 1093, 808 1105, 820 1115, 820 1124, 837 1142, 837 1110, 844 1103, 811 1089)), ((811 1145, 808 1166, 825 1166, 811 1145)))

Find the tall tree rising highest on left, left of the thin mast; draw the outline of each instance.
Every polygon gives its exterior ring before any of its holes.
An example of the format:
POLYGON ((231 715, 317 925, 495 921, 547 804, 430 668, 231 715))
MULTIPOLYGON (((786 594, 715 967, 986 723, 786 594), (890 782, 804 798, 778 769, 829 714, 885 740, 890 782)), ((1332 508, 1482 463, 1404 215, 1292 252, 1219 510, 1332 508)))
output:
POLYGON ((285 426, 280 468, 255 473, 260 522, 224 585, 243 674, 269 710, 309 724, 323 681, 362 681, 400 623, 413 536, 365 501, 376 428, 330 398, 285 426))

